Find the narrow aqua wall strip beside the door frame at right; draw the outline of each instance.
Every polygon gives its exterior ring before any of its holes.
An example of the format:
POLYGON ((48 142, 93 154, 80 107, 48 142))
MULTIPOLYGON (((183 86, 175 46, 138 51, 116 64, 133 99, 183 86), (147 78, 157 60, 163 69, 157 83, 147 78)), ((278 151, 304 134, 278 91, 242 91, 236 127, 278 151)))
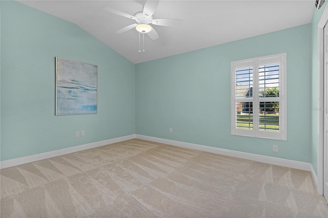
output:
MULTIPOLYGON (((312 33, 312 108, 318 108, 318 24, 327 2, 319 9, 313 10, 311 33, 312 33)), ((318 167, 318 110, 312 110, 312 166, 317 173, 318 167)))

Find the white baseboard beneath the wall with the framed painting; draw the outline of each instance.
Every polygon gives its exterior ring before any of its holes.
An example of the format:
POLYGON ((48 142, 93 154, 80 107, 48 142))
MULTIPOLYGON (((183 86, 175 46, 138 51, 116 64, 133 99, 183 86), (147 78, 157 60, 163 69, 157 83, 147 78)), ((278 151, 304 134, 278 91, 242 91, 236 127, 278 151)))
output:
POLYGON ((86 150, 86 149, 104 146, 104 145, 108 145, 108 144, 113 144, 116 142, 126 141, 126 140, 130 140, 130 139, 135 139, 135 134, 129 135, 129 136, 122 136, 122 137, 118 137, 118 138, 114 138, 114 139, 108 139, 108 140, 99 141, 99 142, 93 142, 93 143, 89 143, 89 144, 85 144, 85 145, 78 145, 78 146, 64 148, 64 149, 60 149, 60 150, 49 151, 49 152, 45 152, 42 154, 31 155, 31 156, 27 156, 27 157, 23 157, 23 158, 16 158, 16 159, 11 159, 11 160, 7 160, 7 161, 1 161, 0 169, 11 167, 11 166, 16 166, 19 164, 30 163, 33 161, 39 161, 39 160, 43 160, 46 158, 52 158, 52 157, 56 157, 59 155, 66 155, 66 154, 69 154, 72 152, 86 150))

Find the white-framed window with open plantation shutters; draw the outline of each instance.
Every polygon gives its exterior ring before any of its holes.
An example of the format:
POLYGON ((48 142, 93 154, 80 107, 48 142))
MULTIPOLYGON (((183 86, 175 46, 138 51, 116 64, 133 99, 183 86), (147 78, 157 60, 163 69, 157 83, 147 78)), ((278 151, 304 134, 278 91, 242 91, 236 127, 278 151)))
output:
POLYGON ((286 140, 286 53, 231 62, 231 134, 286 140))

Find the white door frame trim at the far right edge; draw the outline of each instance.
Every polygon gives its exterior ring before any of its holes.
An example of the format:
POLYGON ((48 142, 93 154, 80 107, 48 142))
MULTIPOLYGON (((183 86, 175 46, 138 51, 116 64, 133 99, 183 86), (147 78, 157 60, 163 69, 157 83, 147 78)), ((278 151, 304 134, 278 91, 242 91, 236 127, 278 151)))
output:
MULTIPOLYGON (((318 164, 317 164, 317 191, 319 194, 323 195, 323 160, 324 160, 324 142, 323 142, 323 131, 324 131, 324 121, 323 121, 323 113, 324 113, 324 96, 323 96, 323 68, 324 68, 324 50, 323 50, 323 28, 328 22, 328 5, 326 5, 324 12, 321 16, 321 19, 318 24, 318 131, 317 131, 317 138, 318 138, 318 164)), ((325 84, 327 85, 327 84, 325 84)), ((328 157, 326 157, 328 158, 328 157)))

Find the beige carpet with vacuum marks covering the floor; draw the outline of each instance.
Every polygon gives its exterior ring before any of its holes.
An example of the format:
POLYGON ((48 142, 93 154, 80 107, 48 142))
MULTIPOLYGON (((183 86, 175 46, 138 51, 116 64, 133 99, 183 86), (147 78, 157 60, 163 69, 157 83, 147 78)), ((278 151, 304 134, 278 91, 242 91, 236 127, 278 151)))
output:
POLYGON ((133 139, 1 170, 1 217, 328 217, 310 172, 133 139))

